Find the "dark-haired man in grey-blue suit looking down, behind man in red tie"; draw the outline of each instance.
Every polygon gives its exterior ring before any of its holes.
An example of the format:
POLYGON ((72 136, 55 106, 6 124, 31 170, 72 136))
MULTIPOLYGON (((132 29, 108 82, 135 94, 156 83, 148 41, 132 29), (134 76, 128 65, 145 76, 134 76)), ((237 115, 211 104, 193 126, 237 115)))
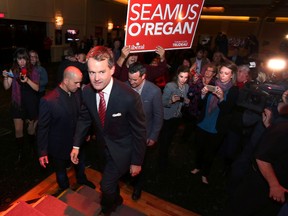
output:
MULTIPOLYGON (((158 86, 145 79, 146 68, 140 62, 135 62, 130 65, 128 77, 131 88, 141 96, 146 117, 146 144, 147 147, 152 147, 158 139, 163 124, 163 105, 161 90, 158 86)), ((149 151, 147 151, 146 154, 148 152, 149 151)), ((142 173, 140 175, 135 177, 134 191, 132 194, 133 200, 138 200, 141 196, 144 181, 143 171, 144 170, 142 170, 142 173)))

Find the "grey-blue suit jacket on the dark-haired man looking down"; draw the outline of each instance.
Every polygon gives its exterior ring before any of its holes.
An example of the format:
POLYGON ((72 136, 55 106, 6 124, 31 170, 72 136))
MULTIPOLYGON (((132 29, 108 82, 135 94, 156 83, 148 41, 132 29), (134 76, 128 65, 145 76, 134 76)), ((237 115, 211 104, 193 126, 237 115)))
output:
POLYGON ((160 88, 145 80, 141 99, 146 117, 147 138, 157 141, 163 124, 163 105, 160 88))

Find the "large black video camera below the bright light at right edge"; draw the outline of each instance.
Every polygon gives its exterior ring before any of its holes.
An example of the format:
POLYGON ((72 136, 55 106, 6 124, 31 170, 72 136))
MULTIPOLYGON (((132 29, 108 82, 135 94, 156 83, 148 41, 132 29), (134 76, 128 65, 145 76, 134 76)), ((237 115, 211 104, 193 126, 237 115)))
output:
POLYGON ((266 107, 276 107, 286 89, 284 84, 248 83, 240 89, 237 105, 261 113, 266 107))

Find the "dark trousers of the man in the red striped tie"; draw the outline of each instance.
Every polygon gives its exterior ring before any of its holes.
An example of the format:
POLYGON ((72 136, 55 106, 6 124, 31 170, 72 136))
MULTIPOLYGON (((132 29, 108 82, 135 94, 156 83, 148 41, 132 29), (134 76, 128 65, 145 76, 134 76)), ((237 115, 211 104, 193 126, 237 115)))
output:
POLYGON ((114 208, 117 207, 116 203, 120 199, 118 181, 124 174, 116 166, 116 163, 112 159, 107 147, 105 148, 105 156, 106 165, 100 183, 102 192, 101 206, 104 213, 114 211, 114 208))

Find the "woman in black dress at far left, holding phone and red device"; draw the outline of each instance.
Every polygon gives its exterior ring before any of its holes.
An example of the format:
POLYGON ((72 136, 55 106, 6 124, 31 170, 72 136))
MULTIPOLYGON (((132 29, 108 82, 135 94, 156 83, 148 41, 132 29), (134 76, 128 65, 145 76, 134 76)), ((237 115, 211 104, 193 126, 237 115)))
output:
POLYGON ((12 88, 11 111, 18 145, 16 162, 20 162, 23 157, 24 123, 27 123, 29 142, 32 142, 31 145, 35 144, 33 141, 38 117, 39 75, 36 70, 33 70, 28 52, 24 48, 18 48, 15 51, 10 71, 2 73, 3 86, 5 90, 12 88))

